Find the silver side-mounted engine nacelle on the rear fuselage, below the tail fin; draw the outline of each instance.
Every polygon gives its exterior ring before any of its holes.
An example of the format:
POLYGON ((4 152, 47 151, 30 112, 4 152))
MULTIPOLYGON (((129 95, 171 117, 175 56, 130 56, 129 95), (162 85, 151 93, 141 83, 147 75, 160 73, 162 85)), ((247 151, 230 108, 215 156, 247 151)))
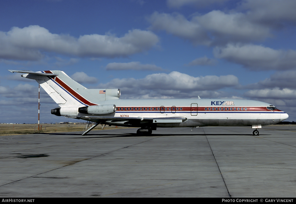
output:
POLYGON ((114 104, 84 106, 84 107, 78 108, 78 112, 83 114, 94 114, 94 115, 111 114, 116 112, 116 106, 114 104))

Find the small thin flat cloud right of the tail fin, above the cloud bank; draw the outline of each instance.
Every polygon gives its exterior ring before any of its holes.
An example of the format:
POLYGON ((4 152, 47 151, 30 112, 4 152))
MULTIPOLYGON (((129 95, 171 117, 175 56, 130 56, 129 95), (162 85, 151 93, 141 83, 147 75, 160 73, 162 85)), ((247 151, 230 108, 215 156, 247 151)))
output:
POLYGON ((141 64, 140 62, 128 62, 128 63, 109 63, 106 66, 106 70, 162 70, 154 64, 141 64))

